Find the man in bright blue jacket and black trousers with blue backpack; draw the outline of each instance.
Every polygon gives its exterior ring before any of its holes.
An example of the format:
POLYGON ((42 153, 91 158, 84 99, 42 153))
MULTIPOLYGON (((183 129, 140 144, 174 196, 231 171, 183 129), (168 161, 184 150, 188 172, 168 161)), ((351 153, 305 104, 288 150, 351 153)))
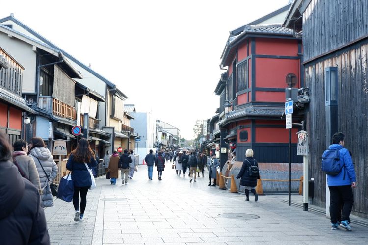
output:
POLYGON ((327 174, 327 185, 330 190, 331 229, 340 226, 351 231, 350 212, 353 208, 354 197, 352 187, 356 187, 355 170, 349 151, 344 148, 345 135, 337 132, 332 136, 332 145, 323 152, 322 171, 327 174), (341 206, 343 203, 343 207, 341 206))

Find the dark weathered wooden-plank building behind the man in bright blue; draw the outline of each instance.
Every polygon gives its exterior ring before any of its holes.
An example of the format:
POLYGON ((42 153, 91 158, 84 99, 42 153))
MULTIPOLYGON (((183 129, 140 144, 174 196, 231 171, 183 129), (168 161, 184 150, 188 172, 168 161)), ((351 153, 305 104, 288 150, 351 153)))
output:
MULTIPOLYGON (((353 213, 368 217, 368 1, 295 0, 284 25, 303 36, 310 177, 314 204, 324 206, 321 156, 336 131, 345 134, 357 178, 353 213)), ((303 74, 303 73, 302 73, 303 74)))

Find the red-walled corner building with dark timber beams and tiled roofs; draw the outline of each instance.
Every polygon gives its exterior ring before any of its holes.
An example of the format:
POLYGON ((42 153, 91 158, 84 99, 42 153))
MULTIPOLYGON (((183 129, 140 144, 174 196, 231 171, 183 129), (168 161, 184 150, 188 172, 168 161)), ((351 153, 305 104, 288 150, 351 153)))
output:
MULTIPOLYGON (((282 119, 287 74, 296 75, 295 87, 303 86, 301 38, 282 27, 289 6, 230 32, 221 56, 221 66, 228 71, 216 88, 220 147, 227 148, 221 151, 221 168, 234 144, 239 161, 252 148, 261 163, 289 162, 289 130, 282 119)), ((298 130, 292 129, 292 163, 302 162, 296 156, 298 130)))

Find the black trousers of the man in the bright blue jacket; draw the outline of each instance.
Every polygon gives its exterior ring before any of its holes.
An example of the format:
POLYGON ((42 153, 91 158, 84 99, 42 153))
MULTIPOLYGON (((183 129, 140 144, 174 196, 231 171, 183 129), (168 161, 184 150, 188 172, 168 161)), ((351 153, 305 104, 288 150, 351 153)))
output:
POLYGON ((342 221, 350 220, 350 212, 353 208, 354 196, 350 185, 329 186, 330 189, 330 216, 331 223, 336 223, 341 217, 342 221))

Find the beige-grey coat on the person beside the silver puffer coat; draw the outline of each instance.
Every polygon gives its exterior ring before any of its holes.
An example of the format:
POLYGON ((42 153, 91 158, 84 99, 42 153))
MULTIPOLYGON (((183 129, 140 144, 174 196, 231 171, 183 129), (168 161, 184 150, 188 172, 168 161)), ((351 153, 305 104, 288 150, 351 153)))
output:
POLYGON ((33 158, 27 156, 27 153, 23 150, 14 151, 13 162, 17 163, 20 171, 25 175, 24 177, 32 182, 32 184, 38 189, 40 195, 42 194, 40 176, 38 176, 36 164, 33 158))

